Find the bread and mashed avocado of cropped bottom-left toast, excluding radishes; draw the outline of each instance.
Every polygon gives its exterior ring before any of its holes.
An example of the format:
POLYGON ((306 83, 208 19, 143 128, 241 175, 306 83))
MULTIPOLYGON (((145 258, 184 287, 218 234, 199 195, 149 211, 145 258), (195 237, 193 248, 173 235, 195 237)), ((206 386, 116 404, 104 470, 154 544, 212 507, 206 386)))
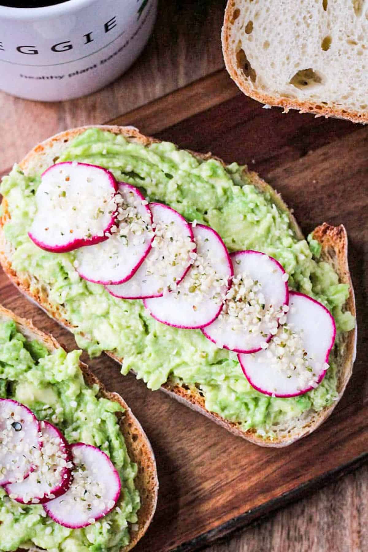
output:
MULTIPOLYGON (((16 400, 54 424, 68 443, 85 442, 109 455, 121 481, 117 506, 88 527, 63 527, 40 504, 22 505, 0 487, 0 550, 127 552, 146 532, 157 503, 153 451, 140 423, 50 335, 0 306, 0 399, 16 400)), ((82 499, 83 497, 81 497, 82 499)))

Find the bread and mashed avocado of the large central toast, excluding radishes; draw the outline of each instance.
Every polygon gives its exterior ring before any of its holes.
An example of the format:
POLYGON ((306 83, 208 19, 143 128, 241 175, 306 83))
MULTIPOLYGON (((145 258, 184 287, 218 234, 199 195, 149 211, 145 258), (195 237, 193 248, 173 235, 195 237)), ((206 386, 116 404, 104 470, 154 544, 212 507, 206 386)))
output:
POLYGON ((229 431, 257 444, 284 446, 318 427, 332 412, 351 374, 355 351, 354 295, 343 226, 319 226, 303 239, 280 196, 236 163, 180 151, 132 128, 81 128, 46 140, 3 181, 1 262, 10 279, 50 316, 69 327, 91 355, 103 349, 229 431), (210 225, 230 251, 254 249, 274 256, 291 289, 323 302, 337 322, 331 368, 317 389, 300 397, 266 397, 252 389, 234 353, 218 349, 199 330, 160 325, 141 301, 111 298, 84 282, 73 254, 36 248, 26 232, 39 175, 57 161, 103 166, 119 181, 140 187, 150 200, 210 225))

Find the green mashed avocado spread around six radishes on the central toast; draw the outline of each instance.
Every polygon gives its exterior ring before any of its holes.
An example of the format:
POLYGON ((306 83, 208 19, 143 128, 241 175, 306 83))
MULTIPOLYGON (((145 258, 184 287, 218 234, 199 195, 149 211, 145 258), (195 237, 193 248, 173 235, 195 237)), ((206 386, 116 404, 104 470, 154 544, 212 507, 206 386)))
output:
MULTIPOLYGON (((343 311, 348 286, 325 262, 319 261, 319 244, 298 240, 268 193, 260 193, 237 163, 227 167, 214 159, 200 161, 173 144, 142 146, 122 136, 89 129, 74 139, 58 161, 81 161, 110 169, 118 181, 141 189, 150 201, 161 201, 188 221, 212 226, 229 251, 253 249, 267 253, 290 275, 291 289, 311 295, 332 312, 338 347, 342 332, 354 327, 343 311)), ((206 408, 244 430, 273 435, 273 426, 309 409, 320 411, 337 396, 333 354, 322 383, 313 391, 291 399, 278 399, 255 391, 244 377, 236 353, 217 348, 200 330, 162 325, 142 301, 113 298, 103 286, 79 278, 73 253, 42 251, 28 238, 35 214, 39 174, 24 176, 17 166, 3 179, 1 192, 9 205, 11 221, 4 231, 15 252, 12 266, 34 275, 49 289, 53 304, 63 305, 74 325, 79 347, 91 356, 104 349, 124 357, 122 373, 134 370, 148 388, 165 381, 193 384, 204 395, 206 408)))

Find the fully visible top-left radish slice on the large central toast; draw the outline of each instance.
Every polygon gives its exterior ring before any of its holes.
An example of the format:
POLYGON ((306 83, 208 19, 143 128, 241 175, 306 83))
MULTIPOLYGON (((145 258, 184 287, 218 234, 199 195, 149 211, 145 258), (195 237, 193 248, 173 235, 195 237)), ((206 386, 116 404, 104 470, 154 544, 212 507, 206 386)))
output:
POLYGON ((63 253, 108 238, 115 224, 118 184, 102 167, 66 161, 46 169, 28 232, 46 251, 63 253))

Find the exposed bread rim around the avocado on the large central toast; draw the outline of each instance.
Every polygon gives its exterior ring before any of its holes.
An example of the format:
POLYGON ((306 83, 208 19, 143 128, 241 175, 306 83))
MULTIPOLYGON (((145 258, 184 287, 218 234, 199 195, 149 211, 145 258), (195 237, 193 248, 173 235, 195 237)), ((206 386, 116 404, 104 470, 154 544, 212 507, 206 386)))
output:
MULTIPOLYGON (((61 152, 65 150, 74 137, 81 134, 88 127, 81 127, 77 129, 67 130, 61 132, 49 140, 46 140, 36 146, 34 150, 30 151, 24 160, 20 163, 20 167, 25 174, 40 173, 50 164, 55 162, 61 152)), ((132 127, 119 127, 119 126, 100 126, 99 128, 109 130, 115 134, 122 134, 127 140, 131 142, 137 142, 144 146, 148 146, 153 142, 157 142, 153 138, 148 138, 140 134, 140 132, 132 127)), ((199 161, 203 161, 210 157, 208 155, 201 155, 199 153, 193 153, 199 161)), ((219 160, 221 161, 221 160, 219 160)), ((291 226, 294 229, 298 238, 302 239, 303 235, 299 229, 294 216, 290 213, 282 200, 281 196, 273 190, 269 184, 266 184, 259 176, 254 172, 248 172, 244 169, 244 176, 247 176, 252 183, 261 192, 268 192, 271 194, 271 198, 281 211, 285 211, 290 217, 291 226)), ((12 247, 6 241, 4 232, 1 231, 3 225, 9 219, 10 214, 7 210, 6 200, 3 200, 3 216, 0 221, 0 262, 4 271, 8 274, 8 277, 18 287, 18 289, 26 295, 30 300, 33 300, 38 304, 45 312, 61 323, 66 328, 70 328, 71 324, 66 319, 66 312, 60 305, 53 305, 49 301, 47 287, 41 282, 36 281, 28 273, 17 273, 12 269, 12 247)), ((335 271, 339 275, 340 282, 347 283, 349 285, 349 300, 346 302, 345 309, 349 310, 355 317, 355 303, 354 292, 351 285, 349 267, 348 267, 348 241, 346 231, 343 226, 333 227, 327 224, 319 226, 314 230, 314 237, 322 245, 322 258, 332 264, 335 271)), ((88 336, 87 336, 88 337, 88 336)), ((339 398, 342 396, 345 386, 351 375, 353 368, 353 362, 355 358, 355 330, 345 333, 343 341, 341 343, 338 358, 334 359, 338 366, 338 386, 337 391, 339 398)), ((122 358, 117 357, 113 352, 106 351, 111 358, 121 364, 122 358)), ((311 433, 316 429, 333 411, 333 408, 338 401, 335 401, 333 405, 325 408, 321 412, 308 411, 305 412, 300 418, 296 418, 292 424, 288 426, 275 426, 273 428, 276 437, 274 439, 263 438, 257 435, 252 429, 244 432, 239 424, 223 420, 215 413, 206 410, 204 397, 200 390, 194 385, 186 385, 185 382, 182 385, 174 385, 167 381, 162 385, 162 390, 173 396, 180 402, 184 402, 185 405, 190 406, 194 410, 204 414, 211 418, 214 422, 225 427, 228 431, 250 440, 253 443, 266 447, 284 447, 293 443, 295 440, 300 439, 311 433)))

